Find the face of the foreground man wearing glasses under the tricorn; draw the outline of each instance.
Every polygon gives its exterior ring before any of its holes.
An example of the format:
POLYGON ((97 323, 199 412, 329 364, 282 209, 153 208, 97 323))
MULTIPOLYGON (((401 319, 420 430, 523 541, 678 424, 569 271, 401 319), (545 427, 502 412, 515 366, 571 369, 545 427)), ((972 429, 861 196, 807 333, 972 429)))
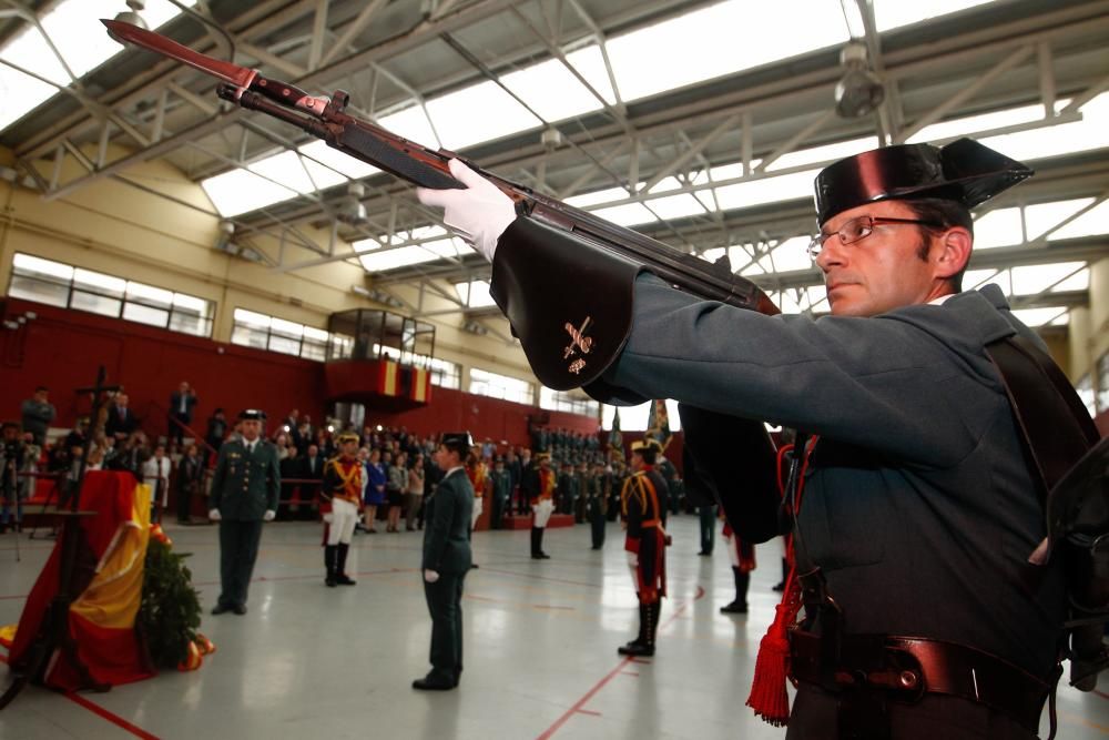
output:
POLYGON ((927 303, 950 291, 948 270, 938 257, 944 252, 938 235, 920 233, 915 224, 875 224, 866 237, 843 244, 835 232, 858 216, 916 219, 898 201, 868 203, 837 213, 822 231, 833 234, 816 256, 824 272, 828 303, 835 316, 875 316, 902 306, 927 303), (926 246, 926 260, 919 254, 926 246))

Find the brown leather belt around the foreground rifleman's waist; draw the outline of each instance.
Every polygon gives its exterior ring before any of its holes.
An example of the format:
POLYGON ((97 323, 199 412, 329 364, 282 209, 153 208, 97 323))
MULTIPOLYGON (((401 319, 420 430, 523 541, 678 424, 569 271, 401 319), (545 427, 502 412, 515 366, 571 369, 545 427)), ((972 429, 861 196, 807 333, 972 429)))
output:
POLYGON ((830 691, 883 690, 891 699, 905 702, 924 693, 960 697, 1004 712, 1034 733, 1051 689, 1048 682, 1006 660, 955 642, 844 635, 841 659, 834 668, 821 665, 822 655, 820 635, 791 631, 791 673, 800 681, 830 691), (879 656, 877 662, 875 655, 879 656))

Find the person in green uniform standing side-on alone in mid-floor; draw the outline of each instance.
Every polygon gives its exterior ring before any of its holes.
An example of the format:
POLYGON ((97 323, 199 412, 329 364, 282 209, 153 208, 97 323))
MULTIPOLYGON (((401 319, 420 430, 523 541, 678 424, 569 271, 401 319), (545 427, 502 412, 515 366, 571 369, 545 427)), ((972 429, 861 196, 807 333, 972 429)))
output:
POLYGON ((424 597, 431 615, 431 670, 414 689, 448 691, 462 673, 462 580, 470 569, 474 486, 462 462, 474 445, 469 432, 444 434, 435 464, 445 473, 425 503, 424 597))

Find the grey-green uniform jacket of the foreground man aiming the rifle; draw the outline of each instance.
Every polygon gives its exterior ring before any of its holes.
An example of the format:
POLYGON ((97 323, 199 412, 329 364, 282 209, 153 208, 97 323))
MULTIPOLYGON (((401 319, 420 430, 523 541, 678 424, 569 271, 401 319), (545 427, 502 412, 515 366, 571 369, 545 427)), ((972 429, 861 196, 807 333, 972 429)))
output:
POLYGON ((996 286, 869 317, 766 316, 637 280, 632 331, 604 374, 648 398, 821 435, 798 554, 844 630, 949 640, 1039 677, 1055 662, 1061 571, 985 345, 1039 342, 996 286))

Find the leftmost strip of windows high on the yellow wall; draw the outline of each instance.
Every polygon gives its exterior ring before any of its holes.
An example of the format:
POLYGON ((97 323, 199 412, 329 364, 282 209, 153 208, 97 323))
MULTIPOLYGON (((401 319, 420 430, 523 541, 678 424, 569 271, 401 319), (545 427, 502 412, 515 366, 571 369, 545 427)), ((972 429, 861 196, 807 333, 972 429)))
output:
POLYGON ((215 304, 114 275, 17 253, 8 295, 123 318, 171 332, 212 335, 215 304))

